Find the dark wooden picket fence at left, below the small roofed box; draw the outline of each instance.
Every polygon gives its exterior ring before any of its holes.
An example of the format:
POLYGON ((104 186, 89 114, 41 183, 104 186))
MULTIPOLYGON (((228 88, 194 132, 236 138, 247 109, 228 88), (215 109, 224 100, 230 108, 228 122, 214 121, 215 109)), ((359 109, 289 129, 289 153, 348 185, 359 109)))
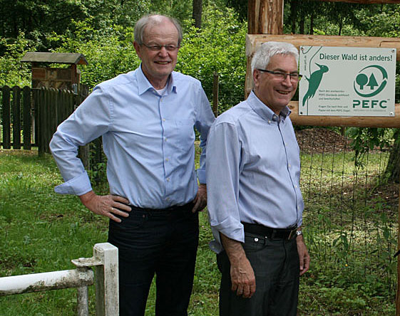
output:
POLYGON ((49 152, 48 143, 57 126, 71 115, 88 95, 88 88, 85 86, 81 86, 78 94, 53 88, 10 88, 7 85, 0 91, 0 144, 3 149, 21 149, 23 144, 24 149, 38 147, 39 154, 49 152))

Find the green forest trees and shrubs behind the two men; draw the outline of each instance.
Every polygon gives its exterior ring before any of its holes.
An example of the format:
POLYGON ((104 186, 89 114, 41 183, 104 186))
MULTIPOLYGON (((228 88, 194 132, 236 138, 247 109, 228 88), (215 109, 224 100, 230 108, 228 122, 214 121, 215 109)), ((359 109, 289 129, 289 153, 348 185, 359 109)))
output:
MULTIPOLYGON (((81 83, 89 88, 134 70, 133 26, 153 12, 183 25, 176 70, 198 78, 210 100, 218 73, 220 112, 243 100, 247 0, 0 0, 0 86, 30 85, 30 65, 19 61, 27 51, 82 53, 88 65, 80 66, 81 83)), ((284 33, 399 37, 400 5, 284 1, 284 33)), ((361 152, 382 139, 400 150, 399 130, 347 132, 361 152)), ((399 157, 391 156, 387 174, 399 179, 399 157)))

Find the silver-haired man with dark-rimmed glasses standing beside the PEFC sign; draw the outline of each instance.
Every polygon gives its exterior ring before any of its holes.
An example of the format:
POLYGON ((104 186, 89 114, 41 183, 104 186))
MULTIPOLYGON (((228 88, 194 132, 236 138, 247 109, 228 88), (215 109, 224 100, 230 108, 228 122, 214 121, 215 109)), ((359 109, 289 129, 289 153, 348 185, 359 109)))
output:
POLYGON ((295 316, 309 268, 301 225, 300 160, 290 110, 299 54, 263 43, 247 100, 217 118, 207 141, 210 225, 222 273, 221 316, 295 316))

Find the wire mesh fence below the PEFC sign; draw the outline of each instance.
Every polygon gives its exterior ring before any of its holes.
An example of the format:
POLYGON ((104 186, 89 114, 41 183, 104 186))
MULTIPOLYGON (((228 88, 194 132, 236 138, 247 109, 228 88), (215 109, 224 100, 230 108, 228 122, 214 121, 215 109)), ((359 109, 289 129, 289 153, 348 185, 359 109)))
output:
MULTIPOLYGON (((389 148, 356 159, 352 140, 335 130, 297 131, 304 231, 321 286, 371 288, 394 299, 399 184, 384 177, 389 148)), ((314 274, 314 275, 313 275, 314 274)))

